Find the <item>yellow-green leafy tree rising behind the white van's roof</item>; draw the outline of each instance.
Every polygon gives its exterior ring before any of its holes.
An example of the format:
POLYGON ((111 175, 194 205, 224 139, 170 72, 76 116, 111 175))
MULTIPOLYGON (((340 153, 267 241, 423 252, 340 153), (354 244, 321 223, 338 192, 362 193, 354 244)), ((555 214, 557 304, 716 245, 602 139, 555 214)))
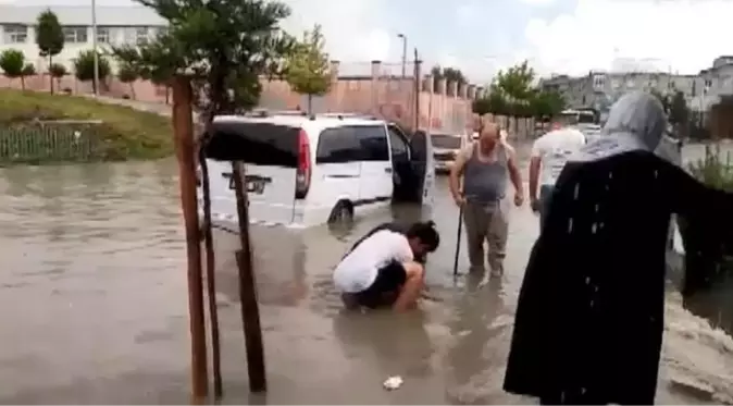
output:
POLYGON ((296 44, 285 64, 287 83, 295 91, 308 95, 309 114, 313 96, 323 96, 331 89, 331 66, 324 47, 321 26, 315 25, 313 30, 303 33, 302 41, 296 44))

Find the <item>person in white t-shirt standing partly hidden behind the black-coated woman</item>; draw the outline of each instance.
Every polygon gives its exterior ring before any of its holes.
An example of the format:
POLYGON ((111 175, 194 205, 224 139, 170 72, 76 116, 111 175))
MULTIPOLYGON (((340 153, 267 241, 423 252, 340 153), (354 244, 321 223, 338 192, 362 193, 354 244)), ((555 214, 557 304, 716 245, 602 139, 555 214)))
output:
POLYGON ((585 135, 569 127, 552 130, 534 142, 530 161, 530 202, 532 210, 539 212, 541 226, 545 223, 555 182, 568 158, 584 145, 585 135))

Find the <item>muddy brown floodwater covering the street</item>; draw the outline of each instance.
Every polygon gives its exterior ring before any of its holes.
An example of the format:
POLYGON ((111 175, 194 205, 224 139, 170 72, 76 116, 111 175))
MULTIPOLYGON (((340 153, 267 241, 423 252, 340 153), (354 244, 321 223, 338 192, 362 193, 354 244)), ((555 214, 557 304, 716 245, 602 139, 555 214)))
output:
MULTIPOLYGON (((527 148, 519 150, 526 159, 527 148)), ((170 160, 0 170, 0 404, 188 404, 176 173, 170 160)), ((234 262, 218 258, 221 404, 534 405, 505 394, 501 381, 537 219, 526 207, 510 209, 504 280, 454 281, 458 212, 445 179, 436 202, 432 213, 385 209, 351 232, 253 230, 266 396, 248 394, 234 262), (443 242, 427 268, 432 298, 409 315, 343 315, 332 267, 361 233, 393 218, 438 224, 443 242), (384 391, 396 374, 402 387, 384 391)), ((733 399, 731 339, 668 296, 658 404, 733 399), (670 383, 681 380, 712 394, 691 397, 670 383)))

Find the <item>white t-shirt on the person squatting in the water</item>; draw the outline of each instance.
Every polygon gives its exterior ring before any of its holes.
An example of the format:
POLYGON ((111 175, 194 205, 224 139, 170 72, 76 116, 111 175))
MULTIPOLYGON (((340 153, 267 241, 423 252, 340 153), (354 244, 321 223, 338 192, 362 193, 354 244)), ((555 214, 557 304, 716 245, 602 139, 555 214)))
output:
POLYGON ((392 261, 407 262, 414 259, 405 234, 389 230, 377 231, 361 242, 334 270, 334 284, 343 293, 357 293, 369 288, 380 268, 392 261))

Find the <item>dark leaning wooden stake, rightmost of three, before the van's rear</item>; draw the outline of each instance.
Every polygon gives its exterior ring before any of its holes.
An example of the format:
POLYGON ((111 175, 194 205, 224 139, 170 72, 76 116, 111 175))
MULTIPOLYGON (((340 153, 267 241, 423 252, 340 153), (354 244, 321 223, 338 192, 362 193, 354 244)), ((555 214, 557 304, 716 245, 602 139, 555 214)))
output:
POLYGON ((262 329, 260 328, 260 308, 257 303, 257 285, 254 272, 252 271, 252 249, 249 242, 248 202, 244 188, 245 169, 241 162, 232 162, 232 177, 237 199, 239 238, 241 243, 241 249, 237 251, 237 267, 239 269, 241 323, 245 330, 245 345, 247 346, 249 390, 251 392, 264 392, 268 390, 268 379, 264 367, 262 329))

